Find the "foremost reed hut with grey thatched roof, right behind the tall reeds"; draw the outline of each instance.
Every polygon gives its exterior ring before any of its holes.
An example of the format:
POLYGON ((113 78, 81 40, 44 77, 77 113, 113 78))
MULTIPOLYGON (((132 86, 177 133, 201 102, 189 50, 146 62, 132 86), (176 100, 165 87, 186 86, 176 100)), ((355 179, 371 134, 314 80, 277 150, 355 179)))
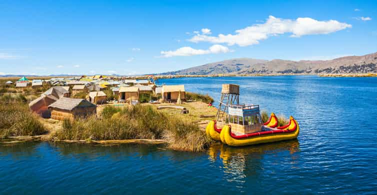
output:
POLYGON ((55 120, 86 117, 96 113, 95 104, 90 103, 86 99, 75 99, 69 97, 61 97, 57 101, 48 105, 48 109, 51 112, 51 118, 55 120))

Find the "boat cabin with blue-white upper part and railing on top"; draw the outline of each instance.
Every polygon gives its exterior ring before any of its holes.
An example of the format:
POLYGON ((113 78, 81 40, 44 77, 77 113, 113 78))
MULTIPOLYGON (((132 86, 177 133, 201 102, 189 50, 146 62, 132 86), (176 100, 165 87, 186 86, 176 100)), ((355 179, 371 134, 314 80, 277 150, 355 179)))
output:
POLYGON ((236 134, 261 131, 259 105, 231 104, 228 107, 227 121, 231 131, 236 134))

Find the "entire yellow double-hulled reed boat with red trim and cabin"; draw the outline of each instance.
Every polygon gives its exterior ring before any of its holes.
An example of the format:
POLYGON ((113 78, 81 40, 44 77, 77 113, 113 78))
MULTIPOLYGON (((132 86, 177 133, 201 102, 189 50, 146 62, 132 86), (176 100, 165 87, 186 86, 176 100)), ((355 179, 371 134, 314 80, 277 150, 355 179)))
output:
POLYGON ((278 119, 272 112, 262 123, 259 105, 229 105, 227 122, 220 129, 216 120, 210 121, 205 128, 207 136, 230 146, 244 146, 294 139, 299 133, 298 123, 292 116, 287 124, 278 126, 278 119))

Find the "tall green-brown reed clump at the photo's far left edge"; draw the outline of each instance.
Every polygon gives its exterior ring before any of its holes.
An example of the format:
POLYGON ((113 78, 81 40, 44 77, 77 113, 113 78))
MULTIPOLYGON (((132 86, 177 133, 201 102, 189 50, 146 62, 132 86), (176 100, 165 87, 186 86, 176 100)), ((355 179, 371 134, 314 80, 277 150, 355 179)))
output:
POLYGON ((0 138, 20 135, 39 135, 45 132, 38 116, 24 103, 0 104, 0 138))

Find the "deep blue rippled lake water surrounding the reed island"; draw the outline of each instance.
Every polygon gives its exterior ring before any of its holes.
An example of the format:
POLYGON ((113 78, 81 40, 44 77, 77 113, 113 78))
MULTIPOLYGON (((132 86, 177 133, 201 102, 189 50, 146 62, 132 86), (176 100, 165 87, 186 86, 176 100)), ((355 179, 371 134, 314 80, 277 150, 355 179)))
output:
POLYGON ((317 76, 160 79, 219 99, 293 115, 297 140, 205 152, 164 145, 0 145, 0 193, 377 193, 377 78, 317 76))

